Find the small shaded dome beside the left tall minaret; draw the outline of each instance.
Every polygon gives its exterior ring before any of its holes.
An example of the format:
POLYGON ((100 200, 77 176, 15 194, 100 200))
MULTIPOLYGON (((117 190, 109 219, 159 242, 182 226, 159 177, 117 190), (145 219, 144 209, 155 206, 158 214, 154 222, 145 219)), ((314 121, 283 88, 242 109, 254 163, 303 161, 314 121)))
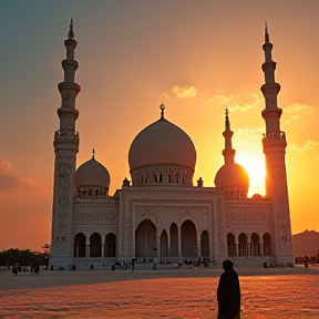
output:
POLYGON ((94 155, 83 163, 75 172, 75 188, 81 186, 102 186, 109 188, 110 174, 107 169, 97 161, 94 155))

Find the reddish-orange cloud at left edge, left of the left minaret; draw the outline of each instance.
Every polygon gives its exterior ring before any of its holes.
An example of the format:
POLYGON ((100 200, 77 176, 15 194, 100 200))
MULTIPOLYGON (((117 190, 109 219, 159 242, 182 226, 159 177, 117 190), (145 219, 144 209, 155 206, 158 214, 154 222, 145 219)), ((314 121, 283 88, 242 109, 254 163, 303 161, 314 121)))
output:
MULTIPOLYGON (((0 162, 0 192, 38 192, 43 184, 19 173, 9 161, 0 162)), ((44 186, 45 187, 45 186, 44 186)))

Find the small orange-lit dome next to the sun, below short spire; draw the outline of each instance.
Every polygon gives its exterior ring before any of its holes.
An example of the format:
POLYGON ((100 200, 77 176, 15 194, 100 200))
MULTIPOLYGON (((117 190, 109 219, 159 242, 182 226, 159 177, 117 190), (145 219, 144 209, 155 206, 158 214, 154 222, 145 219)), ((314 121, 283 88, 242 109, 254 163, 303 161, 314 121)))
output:
POLYGON ((249 175, 239 164, 226 163, 217 172, 215 176, 215 185, 217 188, 228 187, 249 187, 249 175))

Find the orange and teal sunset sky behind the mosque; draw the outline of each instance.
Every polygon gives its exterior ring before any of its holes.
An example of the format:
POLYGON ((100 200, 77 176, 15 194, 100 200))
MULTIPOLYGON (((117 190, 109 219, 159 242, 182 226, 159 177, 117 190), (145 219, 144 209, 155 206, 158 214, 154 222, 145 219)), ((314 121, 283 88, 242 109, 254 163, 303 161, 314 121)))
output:
POLYGON ((131 179, 136 134, 165 117, 193 140, 193 183, 204 186, 224 164, 228 105, 236 162, 250 174, 249 196, 265 195, 261 147, 267 20, 292 234, 319 230, 319 1, 16 1, 0 2, 0 251, 41 250, 51 240, 53 133, 63 81, 61 61, 74 19, 80 66, 78 166, 105 165, 113 195, 131 179))

